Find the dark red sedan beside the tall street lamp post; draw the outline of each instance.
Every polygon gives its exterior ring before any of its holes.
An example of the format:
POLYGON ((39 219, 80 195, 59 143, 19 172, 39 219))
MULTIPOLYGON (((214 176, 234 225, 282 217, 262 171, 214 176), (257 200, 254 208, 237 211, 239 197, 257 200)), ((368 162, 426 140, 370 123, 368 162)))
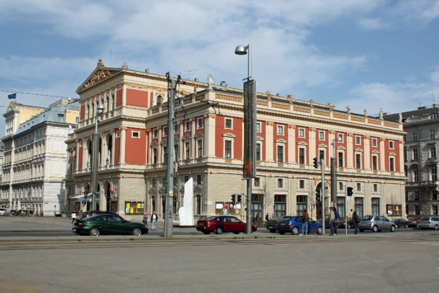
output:
MULTIPOLYGON (((232 216, 213 216, 201 219, 197 222, 197 230, 204 234, 222 234, 223 232, 233 232, 239 234, 245 233, 247 224, 232 216)), ((257 228, 252 224, 252 231, 256 232, 257 228)))

